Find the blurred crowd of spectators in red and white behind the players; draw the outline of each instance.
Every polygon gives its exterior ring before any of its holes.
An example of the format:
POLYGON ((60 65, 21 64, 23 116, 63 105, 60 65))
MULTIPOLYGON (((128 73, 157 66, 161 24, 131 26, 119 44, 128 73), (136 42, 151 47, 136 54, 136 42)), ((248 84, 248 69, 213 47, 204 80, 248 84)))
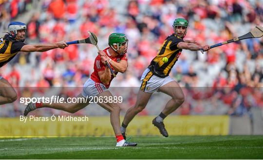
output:
MULTIPOLYGON (((31 3, 32 0, 1 1, 1 32, 7 31, 10 21, 22 18, 31 3)), ((108 47, 111 33, 127 35, 129 67, 125 74, 117 75, 112 87, 140 86, 143 71, 166 37, 173 33, 176 18, 189 21, 185 39, 197 40, 202 45, 242 36, 256 25, 263 26, 260 0, 39 0, 38 3, 41 3, 38 12, 25 21, 25 43, 85 39, 88 31, 92 31, 102 49, 108 47)), ((263 108, 262 38, 229 43, 204 55, 199 51, 182 53, 170 76, 183 87, 186 101, 174 114, 244 115, 252 107, 263 108)), ((96 48, 90 44, 44 53, 20 52, 0 72, 12 86, 20 88, 81 88, 93 72, 96 55, 96 48)), ((18 92, 21 96, 26 91, 18 89, 18 92)), ((136 92, 127 95, 123 110, 134 104, 136 92)), ((24 106, 12 106, 2 109, 6 114, 1 111, 1 116, 21 114, 24 106)), ((146 110, 141 114, 154 113, 146 110)))

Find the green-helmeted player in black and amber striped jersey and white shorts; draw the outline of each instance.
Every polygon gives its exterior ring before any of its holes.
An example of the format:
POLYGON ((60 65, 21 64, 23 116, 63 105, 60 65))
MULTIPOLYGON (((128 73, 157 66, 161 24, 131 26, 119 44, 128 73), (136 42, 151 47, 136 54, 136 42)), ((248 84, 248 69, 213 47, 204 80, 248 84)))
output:
POLYGON ((163 120, 175 111, 184 102, 184 93, 179 84, 169 77, 171 68, 179 59, 183 49, 197 51, 201 48, 204 51, 209 49, 208 45, 200 46, 195 40, 183 40, 187 34, 188 21, 178 18, 173 22, 174 33, 166 38, 160 47, 157 56, 150 62, 148 68, 141 77, 141 87, 137 94, 137 101, 134 106, 129 108, 125 114, 121 126, 122 135, 128 124, 136 114, 141 112, 147 105, 153 92, 159 91, 171 96, 163 109, 163 111, 152 120, 152 124, 156 126, 164 137, 168 137, 163 120))

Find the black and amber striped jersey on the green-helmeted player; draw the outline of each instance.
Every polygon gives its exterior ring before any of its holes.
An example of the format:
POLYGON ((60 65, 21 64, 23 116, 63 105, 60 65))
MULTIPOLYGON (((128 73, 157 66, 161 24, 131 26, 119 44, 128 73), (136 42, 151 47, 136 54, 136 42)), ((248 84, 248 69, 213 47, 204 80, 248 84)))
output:
POLYGON ((161 78, 169 76, 171 68, 182 52, 182 49, 177 47, 179 42, 184 42, 184 40, 174 34, 166 38, 160 47, 157 56, 151 60, 150 65, 148 66, 154 75, 161 78), (165 63, 162 60, 164 57, 168 58, 168 62, 165 63))

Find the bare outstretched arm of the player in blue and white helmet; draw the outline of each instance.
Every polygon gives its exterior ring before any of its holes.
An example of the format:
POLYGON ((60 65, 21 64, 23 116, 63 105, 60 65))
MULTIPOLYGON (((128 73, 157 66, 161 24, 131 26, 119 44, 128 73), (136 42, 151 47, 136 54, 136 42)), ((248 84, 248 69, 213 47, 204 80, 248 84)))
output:
POLYGON ((27 44, 24 45, 20 51, 22 52, 45 52, 55 48, 64 49, 68 44, 66 41, 59 41, 55 43, 41 43, 41 44, 27 44))

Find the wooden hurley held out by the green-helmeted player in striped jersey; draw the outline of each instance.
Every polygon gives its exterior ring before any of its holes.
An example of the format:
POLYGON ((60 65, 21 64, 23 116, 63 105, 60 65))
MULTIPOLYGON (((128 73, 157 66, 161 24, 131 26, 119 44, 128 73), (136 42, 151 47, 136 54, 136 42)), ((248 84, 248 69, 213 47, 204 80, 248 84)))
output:
MULTIPOLYGON (((224 45, 224 44, 227 44, 227 43, 231 43, 233 41, 244 40, 244 39, 253 39, 253 38, 261 38, 262 36, 263 36, 263 27, 257 25, 254 29, 252 29, 247 34, 245 34, 243 36, 240 36, 238 38, 235 38, 235 39, 231 39, 231 40, 227 40, 227 41, 224 41, 224 42, 221 42, 221 43, 217 43, 217 44, 211 45, 210 49, 214 48, 214 47, 218 47, 218 46, 224 45)), ((200 49, 200 51, 204 54, 204 50, 203 49, 200 49)))

